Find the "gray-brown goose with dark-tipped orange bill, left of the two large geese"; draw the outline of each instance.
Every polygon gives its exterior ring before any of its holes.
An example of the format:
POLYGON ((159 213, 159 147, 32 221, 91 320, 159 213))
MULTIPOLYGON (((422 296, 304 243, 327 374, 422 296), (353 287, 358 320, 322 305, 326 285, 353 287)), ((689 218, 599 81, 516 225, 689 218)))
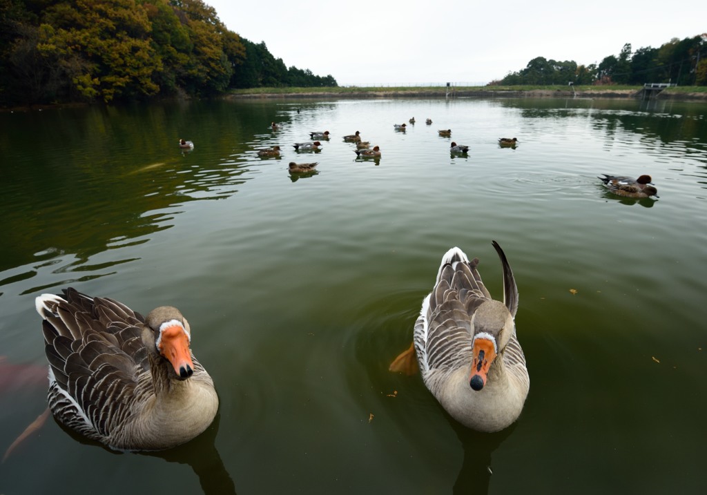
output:
POLYGON ((162 306, 147 318, 74 289, 36 299, 49 361, 49 409, 65 426, 116 450, 174 447, 218 409, 214 382, 194 358, 189 323, 162 306))

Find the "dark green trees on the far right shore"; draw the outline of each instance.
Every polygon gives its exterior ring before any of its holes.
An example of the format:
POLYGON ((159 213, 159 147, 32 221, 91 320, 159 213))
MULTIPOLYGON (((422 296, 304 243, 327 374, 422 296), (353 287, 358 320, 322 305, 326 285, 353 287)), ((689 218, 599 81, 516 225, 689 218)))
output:
POLYGON ((660 48, 643 47, 635 52, 626 43, 619 56, 604 57, 600 64, 578 65, 573 60, 558 62, 537 57, 525 69, 489 83, 489 86, 604 85, 673 83, 678 86, 707 86, 707 33, 673 38, 660 48))

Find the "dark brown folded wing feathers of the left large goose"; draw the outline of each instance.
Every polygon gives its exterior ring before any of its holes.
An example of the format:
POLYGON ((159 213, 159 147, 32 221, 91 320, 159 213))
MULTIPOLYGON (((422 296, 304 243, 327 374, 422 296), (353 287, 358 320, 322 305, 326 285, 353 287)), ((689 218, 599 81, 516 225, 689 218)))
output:
POLYGON ((108 436, 129 414, 127 404, 136 399, 141 375, 149 375, 137 327, 144 319, 121 303, 74 289, 42 301, 45 351, 54 378, 49 407, 62 423, 90 438, 108 436))

